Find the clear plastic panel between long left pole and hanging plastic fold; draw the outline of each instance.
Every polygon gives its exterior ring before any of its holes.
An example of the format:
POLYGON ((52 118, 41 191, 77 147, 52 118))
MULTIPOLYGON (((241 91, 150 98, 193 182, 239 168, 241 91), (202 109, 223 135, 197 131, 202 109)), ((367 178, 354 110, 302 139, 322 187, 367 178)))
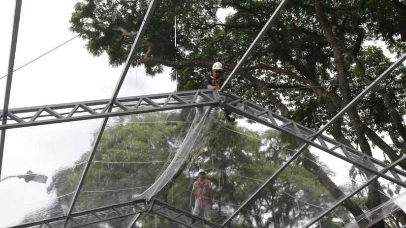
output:
POLYGON ((154 194, 148 189, 156 186, 160 176, 166 170, 176 172, 176 167, 168 167, 176 163, 193 117, 194 109, 184 109, 110 118, 74 212, 154 194))

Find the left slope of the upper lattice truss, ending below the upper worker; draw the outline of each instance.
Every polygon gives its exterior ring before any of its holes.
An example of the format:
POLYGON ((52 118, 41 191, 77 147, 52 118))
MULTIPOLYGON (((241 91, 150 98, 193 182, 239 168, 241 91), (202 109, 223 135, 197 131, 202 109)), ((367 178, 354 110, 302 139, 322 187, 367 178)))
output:
POLYGON ((45 105, 36 107, 0 110, 0 118, 9 120, 1 124, 0 130, 120 115, 150 113, 218 105, 220 99, 213 89, 162 93, 110 99, 45 105), (201 101, 197 102, 197 98, 201 101), (109 108, 113 107, 109 112, 109 108))

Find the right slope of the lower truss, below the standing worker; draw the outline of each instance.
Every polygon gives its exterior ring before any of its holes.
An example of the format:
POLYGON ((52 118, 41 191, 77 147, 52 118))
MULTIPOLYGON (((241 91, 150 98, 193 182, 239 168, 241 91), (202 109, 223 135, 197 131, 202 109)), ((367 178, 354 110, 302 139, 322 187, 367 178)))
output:
POLYGON ((171 204, 160 201, 158 199, 153 199, 150 212, 165 217, 169 220, 175 221, 189 228, 206 228, 206 225, 213 228, 220 227, 219 224, 195 216, 190 212, 176 208, 171 204))

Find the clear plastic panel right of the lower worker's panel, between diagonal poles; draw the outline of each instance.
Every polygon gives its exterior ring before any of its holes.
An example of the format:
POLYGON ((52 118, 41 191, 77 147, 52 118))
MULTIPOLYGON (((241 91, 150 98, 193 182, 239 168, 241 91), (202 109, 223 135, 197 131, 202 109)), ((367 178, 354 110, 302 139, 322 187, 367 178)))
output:
POLYGON ((269 183, 232 221, 235 226, 299 228, 336 201, 303 165, 303 155, 269 183))

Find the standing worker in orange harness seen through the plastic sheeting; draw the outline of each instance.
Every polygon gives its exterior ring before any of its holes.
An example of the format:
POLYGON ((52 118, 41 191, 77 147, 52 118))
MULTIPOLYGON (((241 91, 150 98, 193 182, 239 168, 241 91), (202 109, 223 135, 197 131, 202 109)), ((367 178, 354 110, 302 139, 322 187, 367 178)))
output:
MULTIPOLYGON (((194 215, 211 221, 211 209, 213 205, 212 182, 206 179, 206 172, 199 170, 199 178, 193 183, 190 194, 189 208, 193 208, 194 215), (193 208, 194 197, 194 208, 193 208)), ((207 226, 206 226, 207 227, 207 226)))

